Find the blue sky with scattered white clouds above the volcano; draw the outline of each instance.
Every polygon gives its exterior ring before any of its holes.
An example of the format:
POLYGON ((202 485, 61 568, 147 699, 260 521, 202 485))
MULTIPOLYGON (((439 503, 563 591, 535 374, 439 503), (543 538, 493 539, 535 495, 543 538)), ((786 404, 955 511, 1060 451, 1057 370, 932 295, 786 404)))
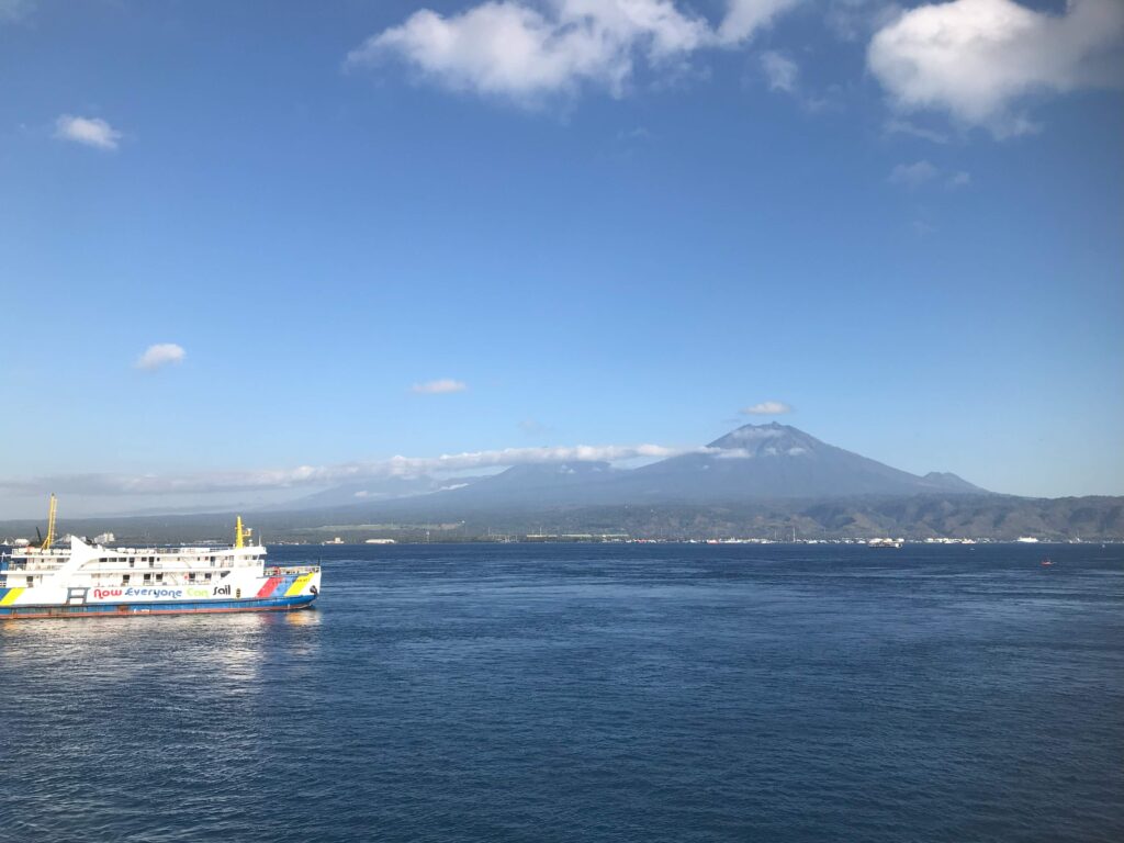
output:
POLYGON ((1117 0, 0 0, 0 515, 773 418, 1124 493, 1122 45, 1117 0))

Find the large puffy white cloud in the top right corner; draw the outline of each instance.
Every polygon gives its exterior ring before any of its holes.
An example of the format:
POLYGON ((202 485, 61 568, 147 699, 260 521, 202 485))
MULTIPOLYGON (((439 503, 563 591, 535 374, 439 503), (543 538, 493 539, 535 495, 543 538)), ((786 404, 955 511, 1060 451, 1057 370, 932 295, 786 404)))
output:
POLYGON ((927 3, 876 33, 867 63, 900 110, 1023 134, 1035 128, 1018 110, 1028 94, 1124 81, 1124 2, 1070 0, 1062 15, 1013 0, 927 3))

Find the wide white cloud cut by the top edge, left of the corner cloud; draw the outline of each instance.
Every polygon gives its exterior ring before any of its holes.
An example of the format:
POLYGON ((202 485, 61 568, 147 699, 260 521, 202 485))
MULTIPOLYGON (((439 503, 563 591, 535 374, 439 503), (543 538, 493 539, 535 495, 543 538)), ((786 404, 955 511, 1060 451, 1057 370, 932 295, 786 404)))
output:
POLYGON ((347 66, 391 56, 454 91, 534 106, 583 85, 625 93, 637 64, 681 66, 738 44, 798 0, 728 0, 714 29, 674 0, 489 0, 456 15, 422 9, 368 38, 347 66))

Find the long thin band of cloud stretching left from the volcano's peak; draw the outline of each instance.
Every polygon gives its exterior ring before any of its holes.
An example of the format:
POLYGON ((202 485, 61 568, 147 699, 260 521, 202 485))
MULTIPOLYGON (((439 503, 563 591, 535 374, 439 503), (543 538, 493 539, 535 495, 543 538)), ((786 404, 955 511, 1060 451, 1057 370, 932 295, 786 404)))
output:
POLYGON ((542 463, 627 462, 663 459, 683 453, 718 453, 716 448, 673 448, 662 445, 573 445, 513 447, 430 457, 393 456, 374 462, 335 465, 299 465, 262 471, 219 471, 206 474, 67 474, 44 478, 0 479, 0 489, 17 495, 57 491, 67 495, 176 495, 212 493, 302 486, 330 486, 375 478, 411 478, 466 470, 542 463))

